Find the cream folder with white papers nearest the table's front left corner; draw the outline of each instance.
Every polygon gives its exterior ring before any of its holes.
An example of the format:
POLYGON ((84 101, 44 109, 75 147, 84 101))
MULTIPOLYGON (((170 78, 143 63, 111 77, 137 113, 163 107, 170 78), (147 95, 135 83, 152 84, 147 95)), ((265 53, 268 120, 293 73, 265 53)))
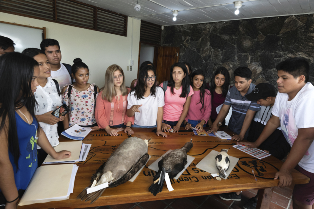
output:
POLYGON ((37 168, 19 206, 69 199, 77 171, 78 166, 74 164, 37 168))

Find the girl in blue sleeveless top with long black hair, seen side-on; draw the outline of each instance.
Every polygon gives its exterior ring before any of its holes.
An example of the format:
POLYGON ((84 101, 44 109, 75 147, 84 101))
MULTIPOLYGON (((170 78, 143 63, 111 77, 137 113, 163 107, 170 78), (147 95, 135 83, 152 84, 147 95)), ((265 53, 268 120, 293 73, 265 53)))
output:
POLYGON ((16 208, 37 168, 38 144, 55 159, 71 152, 56 152, 35 117, 37 78, 33 58, 12 52, 0 56, 0 205, 16 208))

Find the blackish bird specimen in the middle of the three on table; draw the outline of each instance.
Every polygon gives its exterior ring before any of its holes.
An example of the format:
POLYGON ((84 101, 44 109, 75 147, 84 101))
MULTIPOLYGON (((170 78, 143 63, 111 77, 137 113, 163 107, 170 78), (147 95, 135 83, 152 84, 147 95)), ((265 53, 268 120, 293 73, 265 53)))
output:
POLYGON ((191 139, 181 149, 172 150, 158 162, 158 173, 153 179, 154 183, 148 189, 154 196, 162 191, 166 173, 172 179, 184 169, 184 166, 187 164, 187 153, 192 147, 193 143, 191 139))

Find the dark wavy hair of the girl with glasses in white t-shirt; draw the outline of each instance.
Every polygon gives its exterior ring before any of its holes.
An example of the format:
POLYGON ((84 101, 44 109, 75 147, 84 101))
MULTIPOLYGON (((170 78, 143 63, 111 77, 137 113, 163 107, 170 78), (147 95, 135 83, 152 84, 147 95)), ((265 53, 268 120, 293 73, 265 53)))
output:
MULTIPOLYGON (((156 76, 156 71, 153 66, 146 65, 141 68, 139 75, 138 75, 138 84, 132 89, 134 92, 134 96, 137 97, 137 99, 143 99, 143 96, 146 92, 147 83, 144 79, 144 77, 148 77, 148 71, 152 70, 154 72, 154 75, 156 76)), ((156 88, 157 88, 157 79, 155 79, 155 83, 150 88, 150 94, 154 97, 156 97, 156 88)))

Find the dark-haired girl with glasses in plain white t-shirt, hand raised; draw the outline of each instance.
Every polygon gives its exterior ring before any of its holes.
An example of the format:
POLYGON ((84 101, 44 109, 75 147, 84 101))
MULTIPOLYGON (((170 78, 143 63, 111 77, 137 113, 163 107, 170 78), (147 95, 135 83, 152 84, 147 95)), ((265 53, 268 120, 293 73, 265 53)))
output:
POLYGON ((157 127, 157 136, 167 135, 161 131, 164 91, 156 85, 154 67, 147 65, 139 73, 138 83, 127 96, 127 116, 134 115, 135 128, 157 127))

